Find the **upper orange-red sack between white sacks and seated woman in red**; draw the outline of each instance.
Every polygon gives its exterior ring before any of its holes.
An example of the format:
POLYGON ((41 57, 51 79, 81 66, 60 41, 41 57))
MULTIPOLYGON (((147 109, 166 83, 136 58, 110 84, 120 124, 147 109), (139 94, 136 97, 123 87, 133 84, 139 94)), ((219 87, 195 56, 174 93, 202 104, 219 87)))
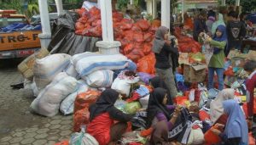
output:
POLYGON ((100 92, 94 90, 79 93, 74 102, 74 112, 77 112, 80 109, 88 108, 91 103, 96 102, 96 99, 99 98, 100 95, 100 92))

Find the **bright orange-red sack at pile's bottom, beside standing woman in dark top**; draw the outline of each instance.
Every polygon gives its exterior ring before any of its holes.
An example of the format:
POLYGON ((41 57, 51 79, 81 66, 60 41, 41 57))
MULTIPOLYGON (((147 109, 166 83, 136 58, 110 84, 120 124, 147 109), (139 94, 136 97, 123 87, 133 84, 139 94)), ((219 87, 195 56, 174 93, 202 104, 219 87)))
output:
POLYGON ((147 56, 144 56, 143 59, 139 59, 137 63, 137 71, 145 72, 148 74, 154 74, 154 64, 155 58, 154 53, 150 53, 147 56))

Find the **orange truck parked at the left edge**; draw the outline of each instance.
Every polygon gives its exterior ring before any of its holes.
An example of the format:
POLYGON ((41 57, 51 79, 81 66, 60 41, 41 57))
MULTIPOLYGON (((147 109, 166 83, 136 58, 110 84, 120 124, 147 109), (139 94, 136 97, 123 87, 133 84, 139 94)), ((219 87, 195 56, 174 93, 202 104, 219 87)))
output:
POLYGON ((38 34, 42 31, 3 31, 14 23, 30 24, 24 14, 0 10, 0 59, 24 58, 41 48, 38 34))

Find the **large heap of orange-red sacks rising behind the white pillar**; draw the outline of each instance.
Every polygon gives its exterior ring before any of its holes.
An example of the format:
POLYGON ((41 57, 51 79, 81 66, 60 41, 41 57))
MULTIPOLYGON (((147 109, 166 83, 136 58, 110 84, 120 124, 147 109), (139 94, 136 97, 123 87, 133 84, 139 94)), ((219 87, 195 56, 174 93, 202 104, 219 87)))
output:
MULTIPOLYGON (((89 11, 81 8, 77 11, 81 18, 76 23, 77 35, 102 36, 102 21, 100 9, 94 7, 89 11)), ((154 33, 157 28, 152 27, 148 20, 124 19, 123 14, 113 12, 113 36, 121 42, 120 53, 137 63, 138 72, 154 74, 154 53, 151 47, 154 41, 154 33)))

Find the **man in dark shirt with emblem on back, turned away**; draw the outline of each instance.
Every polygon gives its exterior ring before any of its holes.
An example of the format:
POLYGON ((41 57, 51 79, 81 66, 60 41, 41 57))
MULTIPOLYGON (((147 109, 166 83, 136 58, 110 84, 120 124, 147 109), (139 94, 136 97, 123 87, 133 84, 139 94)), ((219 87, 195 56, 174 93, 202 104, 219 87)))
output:
POLYGON ((246 27, 238 20, 238 14, 230 11, 227 25, 228 47, 225 49, 225 55, 228 56, 230 49, 241 49, 242 39, 246 36, 246 27))

